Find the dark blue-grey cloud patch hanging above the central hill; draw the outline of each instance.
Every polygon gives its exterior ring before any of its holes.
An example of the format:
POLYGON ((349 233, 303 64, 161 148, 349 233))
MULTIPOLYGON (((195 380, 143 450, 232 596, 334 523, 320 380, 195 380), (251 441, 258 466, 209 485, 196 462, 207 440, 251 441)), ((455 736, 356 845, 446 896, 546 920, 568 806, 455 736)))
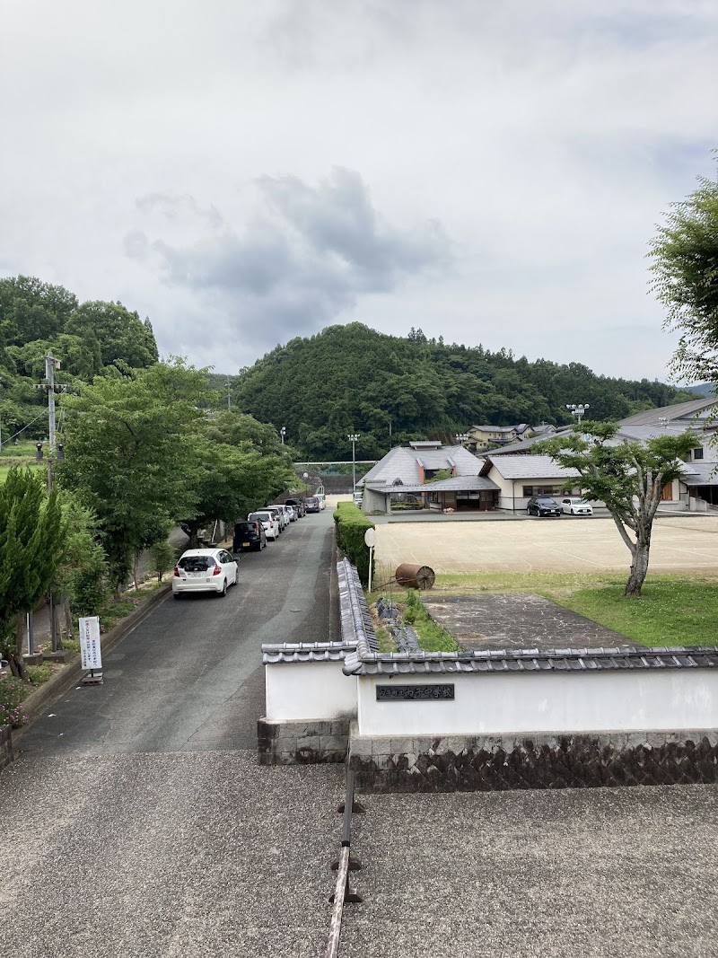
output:
POLYGON ((147 239, 135 229, 125 255, 153 264, 162 281, 230 308, 236 333, 263 343, 316 331, 366 293, 390 293, 452 260, 450 240, 436 220, 399 229, 371 203, 361 176, 341 168, 317 186, 297 176, 260 177, 256 205, 241 231, 193 197, 152 194, 137 201, 159 213, 189 241, 147 239), (204 228, 204 235, 197 233, 204 228))

